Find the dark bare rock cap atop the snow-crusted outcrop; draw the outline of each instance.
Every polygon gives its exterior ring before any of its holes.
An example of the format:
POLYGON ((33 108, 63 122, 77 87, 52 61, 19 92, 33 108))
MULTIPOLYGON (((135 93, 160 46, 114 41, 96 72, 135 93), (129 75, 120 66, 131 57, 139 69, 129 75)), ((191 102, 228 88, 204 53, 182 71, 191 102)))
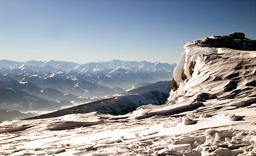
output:
POLYGON ((224 36, 210 36, 193 41, 201 47, 228 47, 231 49, 255 51, 256 40, 246 38, 242 32, 233 32, 224 36))

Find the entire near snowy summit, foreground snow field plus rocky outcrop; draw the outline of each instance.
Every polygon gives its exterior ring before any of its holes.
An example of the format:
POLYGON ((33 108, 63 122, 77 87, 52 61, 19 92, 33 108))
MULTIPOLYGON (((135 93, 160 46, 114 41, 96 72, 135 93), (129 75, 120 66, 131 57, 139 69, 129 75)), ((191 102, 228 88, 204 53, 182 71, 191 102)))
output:
POLYGON ((241 35, 186 44, 166 105, 3 122, 1 155, 256 155, 255 40, 241 35))

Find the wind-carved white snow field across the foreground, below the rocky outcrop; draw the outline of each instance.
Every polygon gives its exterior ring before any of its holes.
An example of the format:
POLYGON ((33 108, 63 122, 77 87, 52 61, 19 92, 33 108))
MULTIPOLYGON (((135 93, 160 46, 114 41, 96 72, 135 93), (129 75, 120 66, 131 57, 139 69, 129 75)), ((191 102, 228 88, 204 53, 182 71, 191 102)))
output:
POLYGON ((136 120, 133 116, 93 112, 14 120, 1 123, 6 131, 0 131, 0 152, 1 155, 255 155, 255 123, 255 108, 229 110, 208 118, 188 113, 179 118, 153 116, 136 120), (245 117, 233 121, 231 113, 245 117), (8 127, 16 127, 16 132, 8 127), (12 131, 7 133, 7 130, 12 131))

